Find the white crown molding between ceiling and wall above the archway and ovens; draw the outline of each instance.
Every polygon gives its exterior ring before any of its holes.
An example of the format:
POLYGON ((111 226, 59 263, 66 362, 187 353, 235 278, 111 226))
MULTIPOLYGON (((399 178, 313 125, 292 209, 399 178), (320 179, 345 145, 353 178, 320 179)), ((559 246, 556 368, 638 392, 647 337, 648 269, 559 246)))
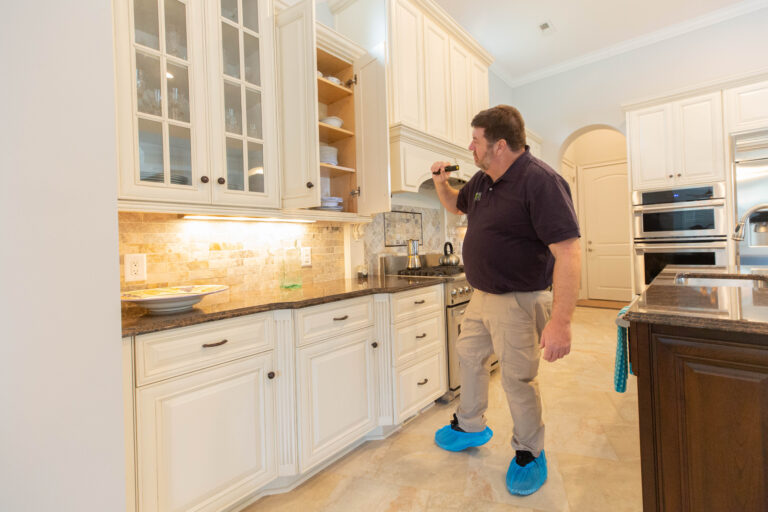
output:
POLYGON ((505 69, 500 69, 499 66, 492 66, 491 69, 510 88, 515 89, 532 82, 537 82, 544 78, 549 78, 560 73, 565 73, 566 71, 571 71, 573 69, 586 66, 587 64, 592 64, 594 62, 599 62, 610 57, 615 57, 616 55, 621 55, 632 50, 650 46, 652 44, 665 41, 673 37, 688 34, 689 32, 716 25, 729 19, 765 8, 768 8, 768 0, 746 0, 731 7, 718 9, 697 18, 693 18, 682 23, 677 23, 661 30, 635 37, 616 45, 609 46, 595 52, 587 53, 574 59, 554 64, 552 66, 547 66, 518 77, 514 77, 505 69))

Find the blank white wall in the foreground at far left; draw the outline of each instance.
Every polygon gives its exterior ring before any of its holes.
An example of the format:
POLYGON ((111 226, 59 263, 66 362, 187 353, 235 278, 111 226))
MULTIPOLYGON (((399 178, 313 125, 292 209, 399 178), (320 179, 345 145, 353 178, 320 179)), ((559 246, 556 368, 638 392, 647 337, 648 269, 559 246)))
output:
POLYGON ((4 2, 0 510, 125 510, 111 3, 4 2))

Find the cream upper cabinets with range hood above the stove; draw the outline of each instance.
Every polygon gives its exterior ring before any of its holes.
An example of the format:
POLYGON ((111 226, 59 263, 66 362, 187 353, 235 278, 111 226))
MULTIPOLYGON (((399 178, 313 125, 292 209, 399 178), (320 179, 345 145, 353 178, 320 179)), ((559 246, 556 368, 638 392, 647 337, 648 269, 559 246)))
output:
POLYGON ((471 178, 470 123, 488 107, 490 54, 433 0, 388 0, 387 19, 392 192, 418 192, 438 160, 471 178))

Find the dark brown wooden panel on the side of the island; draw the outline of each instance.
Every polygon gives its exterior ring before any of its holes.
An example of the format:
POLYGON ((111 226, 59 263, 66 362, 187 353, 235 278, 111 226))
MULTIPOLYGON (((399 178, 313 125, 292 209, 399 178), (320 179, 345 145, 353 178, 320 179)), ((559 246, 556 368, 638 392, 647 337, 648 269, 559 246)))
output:
POLYGON ((768 351, 662 335, 654 346, 664 510, 766 510, 768 351))

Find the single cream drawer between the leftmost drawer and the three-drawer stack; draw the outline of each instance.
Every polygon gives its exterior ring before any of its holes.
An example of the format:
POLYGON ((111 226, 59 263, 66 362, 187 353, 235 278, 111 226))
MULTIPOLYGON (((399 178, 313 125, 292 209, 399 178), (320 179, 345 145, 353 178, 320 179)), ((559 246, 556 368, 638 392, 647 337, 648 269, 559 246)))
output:
POLYGON ((373 297, 340 300, 296 310, 298 345, 373 325, 373 297))

